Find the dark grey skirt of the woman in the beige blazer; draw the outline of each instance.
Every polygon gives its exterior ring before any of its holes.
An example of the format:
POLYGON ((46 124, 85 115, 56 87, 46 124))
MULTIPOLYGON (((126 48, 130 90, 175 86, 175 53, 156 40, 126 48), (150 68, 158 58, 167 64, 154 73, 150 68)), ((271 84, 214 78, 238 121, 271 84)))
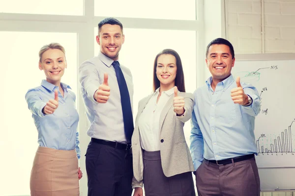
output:
POLYGON ((143 150, 146 196, 196 196, 192 172, 164 175, 160 151, 143 150))

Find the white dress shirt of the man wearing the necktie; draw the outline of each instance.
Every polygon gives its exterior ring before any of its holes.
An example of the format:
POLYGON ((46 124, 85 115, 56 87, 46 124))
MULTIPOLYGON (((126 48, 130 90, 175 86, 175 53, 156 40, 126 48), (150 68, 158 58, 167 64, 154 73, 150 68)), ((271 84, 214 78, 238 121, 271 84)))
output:
MULTIPOLYGON (((98 56, 83 62, 79 67, 80 90, 90 124, 87 135, 91 138, 126 144, 121 97, 113 62, 112 59, 99 52, 98 56), (98 103, 93 96, 104 81, 104 73, 108 73, 109 76, 108 84, 111 95, 106 103, 98 103)), ((132 108, 132 75, 125 66, 120 64, 120 68, 127 83, 132 108)))

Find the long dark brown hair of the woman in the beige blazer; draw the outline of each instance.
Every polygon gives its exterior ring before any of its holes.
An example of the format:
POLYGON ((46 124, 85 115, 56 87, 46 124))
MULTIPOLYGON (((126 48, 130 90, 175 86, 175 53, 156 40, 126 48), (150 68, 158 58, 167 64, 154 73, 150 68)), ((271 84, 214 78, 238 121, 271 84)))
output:
POLYGON ((175 86, 177 86, 177 89, 180 92, 185 92, 185 86, 184 86, 184 74, 183 74, 183 69, 182 69, 182 63, 180 56, 178 53, 173 50, 173 49, 163 49, 160 53, 157 54, 155 60, 154 60, 154 69, 153 69, 153 91, 158 89, 160 87, 160 81, 157 78, 157 64, 158 64, 158 57, 161 56, 162 54, 171 54, 175 56, 176 58, 176 67, 177 67, 177 72, 176 72, 176 78, 175 78, 175 86))

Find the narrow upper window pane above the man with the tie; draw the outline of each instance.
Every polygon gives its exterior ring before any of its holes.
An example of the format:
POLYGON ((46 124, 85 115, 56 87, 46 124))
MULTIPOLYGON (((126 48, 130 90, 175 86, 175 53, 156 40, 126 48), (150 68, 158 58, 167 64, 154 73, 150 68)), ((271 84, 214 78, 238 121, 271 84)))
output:
POLYGON ((196 0, 94 0, 94 15, 126 18, 196 20, 196 0))

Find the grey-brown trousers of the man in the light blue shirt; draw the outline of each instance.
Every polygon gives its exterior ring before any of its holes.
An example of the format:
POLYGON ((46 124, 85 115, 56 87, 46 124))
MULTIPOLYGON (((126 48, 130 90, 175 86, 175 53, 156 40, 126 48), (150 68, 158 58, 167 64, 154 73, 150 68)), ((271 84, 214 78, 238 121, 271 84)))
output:
POLYGON ((218 166, 204 159, 196 171, 199 196, 260 196, 255 157, 218 166))

